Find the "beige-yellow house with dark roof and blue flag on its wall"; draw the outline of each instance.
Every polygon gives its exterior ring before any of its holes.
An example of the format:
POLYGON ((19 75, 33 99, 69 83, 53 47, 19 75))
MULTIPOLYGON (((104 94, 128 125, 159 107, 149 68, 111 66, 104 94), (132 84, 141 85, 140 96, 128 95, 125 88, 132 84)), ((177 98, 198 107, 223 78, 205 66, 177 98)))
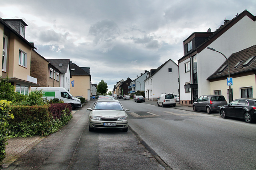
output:
POLYGON ((91 75, 75 63, 72 63, 72 61, 70 61, 70 70, 72 75, 71 82, 73 82, 70 87, 70 93, 73 96, 83 96, 85 100, 89 101, 91 96, 91 75))

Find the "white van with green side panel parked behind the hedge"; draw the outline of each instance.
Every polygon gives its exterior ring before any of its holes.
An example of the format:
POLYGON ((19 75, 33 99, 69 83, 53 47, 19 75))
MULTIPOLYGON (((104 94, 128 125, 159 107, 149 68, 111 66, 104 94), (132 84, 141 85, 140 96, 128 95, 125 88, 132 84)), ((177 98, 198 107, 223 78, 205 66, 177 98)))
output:
POLYGON ((55 97, 59 100, 63 100, 64 103, 71 104, 72 110, 82 107, 80 99, 74 98, 72 94, 70 94, 70 92, 63 87, 31 87, 32 92, 36 90, 42 90, 43 98, 46 98, 47 100, 55 97))

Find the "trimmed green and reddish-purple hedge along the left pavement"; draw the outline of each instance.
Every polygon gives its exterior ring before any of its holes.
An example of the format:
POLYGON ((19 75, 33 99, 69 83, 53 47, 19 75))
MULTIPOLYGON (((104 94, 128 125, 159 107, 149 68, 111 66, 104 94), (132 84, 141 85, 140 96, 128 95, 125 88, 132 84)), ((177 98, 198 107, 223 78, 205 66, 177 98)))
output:
POLYGON ((11 137, 50 135, 72 118, 70 104, 49 106, 12 106, 14 119, 9 119, 11 137))

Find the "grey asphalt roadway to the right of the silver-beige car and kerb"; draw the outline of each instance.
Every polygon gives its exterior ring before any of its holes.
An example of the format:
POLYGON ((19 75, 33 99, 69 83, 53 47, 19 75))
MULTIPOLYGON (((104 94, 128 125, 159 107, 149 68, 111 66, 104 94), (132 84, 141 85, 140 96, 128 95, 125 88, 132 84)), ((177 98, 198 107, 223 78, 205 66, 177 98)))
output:
POLYGON ((130 127, 174 170, 256 169, 256 123, 121 102, 130 127))

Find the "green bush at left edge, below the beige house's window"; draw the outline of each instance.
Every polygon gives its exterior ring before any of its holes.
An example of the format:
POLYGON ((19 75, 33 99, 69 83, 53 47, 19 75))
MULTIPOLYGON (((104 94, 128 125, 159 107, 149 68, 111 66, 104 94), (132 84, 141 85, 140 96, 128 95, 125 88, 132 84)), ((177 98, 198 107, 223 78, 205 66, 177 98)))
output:
POLYGON ((8 77, 0 79, 0 100, 15 102, 15 88, 8 77))

